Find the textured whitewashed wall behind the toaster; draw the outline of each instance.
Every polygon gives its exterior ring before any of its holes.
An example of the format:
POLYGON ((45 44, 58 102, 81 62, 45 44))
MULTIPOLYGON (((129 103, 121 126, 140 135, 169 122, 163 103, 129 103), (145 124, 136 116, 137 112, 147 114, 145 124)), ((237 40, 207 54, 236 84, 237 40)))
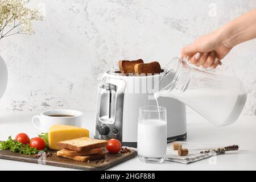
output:
MULTIPOLYGON (((35 35, 1 40, 9 83, 0 110, 95 110, 97 77, 120 59, 165 65, 197 36, 256 7, 255 0, 35 0, 46 16, 35 35), (216 10, 216 11, 215 11, 216 10)), ((240 77, 256 114, 256 40, 241 44, 216 72, 240 77)))

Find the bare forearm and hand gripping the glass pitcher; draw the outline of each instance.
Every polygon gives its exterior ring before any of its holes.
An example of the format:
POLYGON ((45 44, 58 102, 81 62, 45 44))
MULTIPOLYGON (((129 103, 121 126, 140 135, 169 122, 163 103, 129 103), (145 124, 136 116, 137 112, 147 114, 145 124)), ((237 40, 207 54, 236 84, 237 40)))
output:
POLYGON ((183 47, 180 56, 189 56, 189 61, 196 66, 214 69, 234 46, 254 38, 256 38, 256 9, 183 47))

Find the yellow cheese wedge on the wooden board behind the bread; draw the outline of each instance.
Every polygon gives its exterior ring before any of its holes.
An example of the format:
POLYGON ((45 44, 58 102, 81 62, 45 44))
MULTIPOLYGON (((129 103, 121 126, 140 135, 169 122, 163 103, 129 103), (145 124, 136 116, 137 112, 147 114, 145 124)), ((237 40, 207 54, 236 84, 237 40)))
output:
POLYGON ((52 150, 60 150, 61 147, 57 146, 58 142, 81 137, 89 137, 89 130, 69 125, 53 125, 49 128, 48 135, 49 148, 52 150))

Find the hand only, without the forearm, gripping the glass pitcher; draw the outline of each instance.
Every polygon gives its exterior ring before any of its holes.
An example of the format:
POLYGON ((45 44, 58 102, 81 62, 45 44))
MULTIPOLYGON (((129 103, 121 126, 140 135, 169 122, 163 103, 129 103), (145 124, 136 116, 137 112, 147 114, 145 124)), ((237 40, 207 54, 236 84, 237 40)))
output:
POLYGON ((233 47, 222 41, 220 32, 212 32, 201 36, 189 46, 181 49, 180 56, 188 57, 188 61, 197 67, 215 69, 233 47))

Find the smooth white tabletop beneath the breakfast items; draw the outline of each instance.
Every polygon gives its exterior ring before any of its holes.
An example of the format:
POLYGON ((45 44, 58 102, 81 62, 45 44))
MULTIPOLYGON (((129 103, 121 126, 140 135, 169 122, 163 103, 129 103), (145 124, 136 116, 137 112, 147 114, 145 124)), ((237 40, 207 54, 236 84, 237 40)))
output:
MULTIPOLYGON (((35 137, 38 131, 31 124, 31 117, 38 113, 0 112, 0 140, 10 135, 27 133, 35 137)), ((94 113, 85 113, 83 127, 93 137, 94 113)), ((256 117, 242 115, 236 123, 225 127, 214 127, 198 114, 187 115, 187 140, 192 143, 239 144, 240 150, 217 156, 216 163, 209 159, 191 164, 164 162, 163 164, 142 163, 133 158, 109 170, 255 170, 256 169, 256 117)), ((32 163, 0 159, 0 170, 72 170, 32 163)))

